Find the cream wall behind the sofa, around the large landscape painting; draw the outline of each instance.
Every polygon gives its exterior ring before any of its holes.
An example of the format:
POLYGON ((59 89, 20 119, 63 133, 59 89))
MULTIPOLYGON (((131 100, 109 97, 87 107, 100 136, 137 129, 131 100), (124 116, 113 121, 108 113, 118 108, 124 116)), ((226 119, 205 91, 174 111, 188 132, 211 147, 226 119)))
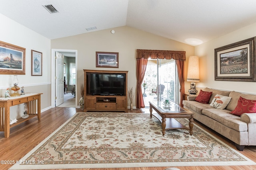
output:
POLYGON ((256 94, 256 82, 214 80, 214 49, 255 37, 255 30, 256 23, 196 46, 195 55, 200 57, 200 82, 196 83, 197 86, 256 94))

